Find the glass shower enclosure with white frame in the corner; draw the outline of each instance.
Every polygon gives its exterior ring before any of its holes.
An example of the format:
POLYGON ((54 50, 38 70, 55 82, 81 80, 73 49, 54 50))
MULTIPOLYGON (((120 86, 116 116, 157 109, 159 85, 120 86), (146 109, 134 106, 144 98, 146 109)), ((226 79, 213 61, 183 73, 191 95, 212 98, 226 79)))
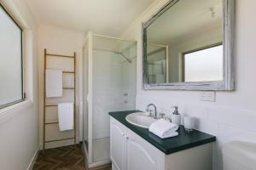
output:
POLYGON ((137 42, 90 32, 83 55, 84 151, 96 167, 110 162, 108 112, 135 109, 137 42))

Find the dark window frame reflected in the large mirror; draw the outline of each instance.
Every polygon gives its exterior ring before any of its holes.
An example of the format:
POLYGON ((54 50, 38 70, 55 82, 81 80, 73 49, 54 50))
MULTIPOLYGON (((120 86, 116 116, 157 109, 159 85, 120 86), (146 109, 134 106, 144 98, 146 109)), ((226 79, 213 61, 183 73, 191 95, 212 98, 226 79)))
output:
MULTIPOLYGON (((191 54, 191 53, 195 53, 195 52, 198 52, 198 51, 201 51, 201 50, 204 50, 204 49, 208 49, 208 48, 215 48, 215 47, 218 47, 218 46, 223 46, 223 42, 217 42, 217 43, 212 43, 210 45, 207 45, 207 46, 204 46, 202 48, 195 48, 195 49, 192 49, 192 50, 189 50, 189 51, 185 51, 182 53, 182 81, 185 82, 185 55, 186 54, 191 54)), ((224 48, 224 46, 223 46, 224 48)), ((224 68, 223 68, 224 69, 224 68)))

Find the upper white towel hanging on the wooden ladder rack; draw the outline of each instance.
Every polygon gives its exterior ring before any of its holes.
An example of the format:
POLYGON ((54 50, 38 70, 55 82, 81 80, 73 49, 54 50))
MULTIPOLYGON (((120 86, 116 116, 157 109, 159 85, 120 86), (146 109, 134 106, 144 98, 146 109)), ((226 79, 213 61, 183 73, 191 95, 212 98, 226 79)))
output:
POLYGON ((62 71, 59 69, 46 69, 45 71, 46 97, 62 96, 62 71))

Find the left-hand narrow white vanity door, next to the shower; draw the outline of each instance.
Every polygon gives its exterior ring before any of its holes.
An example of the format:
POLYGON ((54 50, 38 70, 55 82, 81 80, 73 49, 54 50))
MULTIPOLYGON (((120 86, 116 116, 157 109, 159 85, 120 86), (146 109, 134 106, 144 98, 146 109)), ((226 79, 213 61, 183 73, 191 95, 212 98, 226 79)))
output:
POLYGON ((125 170, 126 139, 125 127, 111 118, 110 158, 117 170, 125 170))

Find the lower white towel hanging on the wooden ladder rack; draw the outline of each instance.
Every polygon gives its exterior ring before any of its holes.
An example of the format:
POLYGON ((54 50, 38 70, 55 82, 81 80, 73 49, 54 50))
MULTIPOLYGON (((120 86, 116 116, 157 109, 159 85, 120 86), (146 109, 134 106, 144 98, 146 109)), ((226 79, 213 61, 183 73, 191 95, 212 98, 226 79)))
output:
POLYGON ((73 129, 73 103, 58 104, 58 118, 60 131, 73 129))

